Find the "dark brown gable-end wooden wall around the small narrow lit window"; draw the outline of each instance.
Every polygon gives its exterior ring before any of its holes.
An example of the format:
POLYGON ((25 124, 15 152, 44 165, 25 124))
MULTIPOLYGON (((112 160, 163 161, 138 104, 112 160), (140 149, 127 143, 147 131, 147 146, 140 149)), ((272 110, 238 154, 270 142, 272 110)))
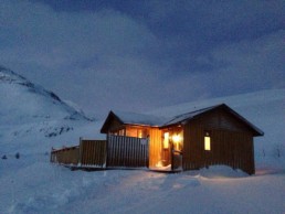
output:
POLYGON ((213 164, 239 168, 254 173, 253 133, 231 115, 217 110, 184 125, 183 170, 213 164), (211 137, 211 150, 204 150, 204 132, 211 137))

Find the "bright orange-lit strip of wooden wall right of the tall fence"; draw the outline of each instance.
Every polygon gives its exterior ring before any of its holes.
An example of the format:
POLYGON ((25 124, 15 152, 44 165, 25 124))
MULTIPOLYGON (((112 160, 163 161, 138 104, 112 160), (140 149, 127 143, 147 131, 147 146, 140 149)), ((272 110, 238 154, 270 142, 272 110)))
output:
POLYGON ((161 161, 162 136, 158 128, 149 129, 149 167, 156 167, 161 161))

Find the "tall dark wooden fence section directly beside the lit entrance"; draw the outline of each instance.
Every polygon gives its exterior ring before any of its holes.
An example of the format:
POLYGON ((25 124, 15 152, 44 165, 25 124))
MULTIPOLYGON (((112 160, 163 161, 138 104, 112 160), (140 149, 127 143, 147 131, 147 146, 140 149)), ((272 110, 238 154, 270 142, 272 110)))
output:
POLYGON ((148 139, 125 136, 107 137, 107 167, 148 167, 148 139))

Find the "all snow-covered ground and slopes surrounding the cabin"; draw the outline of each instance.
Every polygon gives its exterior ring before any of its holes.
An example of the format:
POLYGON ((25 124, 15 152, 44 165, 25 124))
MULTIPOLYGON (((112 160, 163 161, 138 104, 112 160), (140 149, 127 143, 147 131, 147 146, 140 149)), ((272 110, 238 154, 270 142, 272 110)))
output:
POLYGON ((224 165, 177 174, 147 169, 86 172, 51 164, 49 152, 52 147, 77 145, 80 137, 104 138, 99 133, 103 121, 87 120, 40 86, 19 84, 29 83, 19 76, 7 81, 14 75, 8 78, 7 74, 0 71, 1 214, 285 213, 285 89, 152 111, 172 116, 228 104, 265 132, 255 139, 255 175, 224 165), (78 117, 71 118, 74 113, 78 117))

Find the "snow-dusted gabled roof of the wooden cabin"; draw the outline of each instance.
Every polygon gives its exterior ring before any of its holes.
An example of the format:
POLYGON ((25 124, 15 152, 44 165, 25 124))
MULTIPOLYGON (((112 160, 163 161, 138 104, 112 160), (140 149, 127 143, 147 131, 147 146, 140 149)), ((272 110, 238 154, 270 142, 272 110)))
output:
POLYGON ((124 113, 124 111, 109 111, 102 129, 102 133, 108 132, 108 126, 112 122, 113 119, 118 120, 122 125, 137 125, 137 126, 149 126, 149 127, 159 127, 159 128, 166 128, 171 127, 176 125, 183 125, 187 121, 190 121, 197 117, 200 117, 204 115, 205 113, 209 113, 211 110, 221 108, 223 110, 226 110, 232 116, 234 116, 236 119, 245 124, 255 136, 263 136, 264 132, 255 127, 253 124, 251 124, 249 120, 243 118, 240 114, 234 111, 232 108, 226 106, 225 104, 220 104, 215 106, 210 106, 207 108, 198 109, 194 111, 186 113, 182 115, 175 116, 172 118, 163 118, 163 117, 157 117, 154 115, 145 115, 145 114, 137 114, 137 113, 124 113))

